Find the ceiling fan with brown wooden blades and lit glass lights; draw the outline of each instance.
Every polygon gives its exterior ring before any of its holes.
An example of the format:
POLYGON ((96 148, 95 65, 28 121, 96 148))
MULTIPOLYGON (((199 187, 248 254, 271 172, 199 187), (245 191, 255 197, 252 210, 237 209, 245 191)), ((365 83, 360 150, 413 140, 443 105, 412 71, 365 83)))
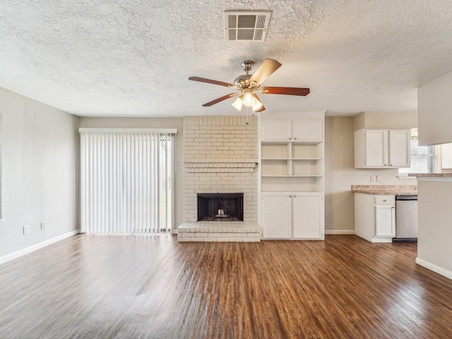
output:
POLYGON ((201 83, 213 83, 213 85, 220 85, 230 88, 235 88, 239 92, 230 93, 224 95, 222 97, 218 97, 218 99, 207 102, 203 105, 203 107, 209 107, 218 102, 222 102, 223 100, 229 99, 230 97, 234 97, 239 95, 239 97, 232 102, 232 106, 234 106, 237 110, 242 110, 242 107, 251 107, 253 112, 262 112, 265 107, 261 100, 259 100, 256 93, 261 94, 285 94, 285 95, 308 95, 309 88, 297 88, 297 87, 261 87, 263 81, 266 79, 277 69, 280 68, 281 64, 273 59, 265 59, 261 66, 254 72, 254 74, 249 74, 251 71, 251 67, 254 65, 254 61, 246 60, 242 62, 243 70, 246 74, 239 76, 234 80, 234 83, 223 83, 222 81, 215 81, 206 78, 199 78, 198 76, 191 76, 189 80, 193 81, 201 81, 201 83))

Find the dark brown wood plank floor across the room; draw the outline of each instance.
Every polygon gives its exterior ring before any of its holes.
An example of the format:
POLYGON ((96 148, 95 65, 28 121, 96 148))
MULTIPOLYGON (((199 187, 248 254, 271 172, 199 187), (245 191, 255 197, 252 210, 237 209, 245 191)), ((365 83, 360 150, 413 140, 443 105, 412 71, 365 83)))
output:
POLYGON ((416 244, 81 234, 0 266, 0 338, 452 338, 416 244))

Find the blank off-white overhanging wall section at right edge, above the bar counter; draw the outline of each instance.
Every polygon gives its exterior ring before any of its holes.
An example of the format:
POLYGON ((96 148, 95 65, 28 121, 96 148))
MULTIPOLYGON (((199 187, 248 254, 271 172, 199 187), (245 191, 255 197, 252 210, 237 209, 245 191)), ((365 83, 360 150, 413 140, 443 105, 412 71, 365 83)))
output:
POLYGON ((417 89, 420 145, 452 142, 452 73, 417 89))

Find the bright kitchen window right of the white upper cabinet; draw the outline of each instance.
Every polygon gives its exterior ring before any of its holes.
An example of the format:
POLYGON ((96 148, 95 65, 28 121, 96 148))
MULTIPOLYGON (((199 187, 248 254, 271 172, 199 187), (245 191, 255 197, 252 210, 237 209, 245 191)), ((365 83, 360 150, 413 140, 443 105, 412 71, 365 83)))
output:
POLYGON ((436 146, 420 146, 417 140, 417 129, 411 130, 411 167, 400 168, 402 177, 408 173, 434 173, 436 169, 436 146))

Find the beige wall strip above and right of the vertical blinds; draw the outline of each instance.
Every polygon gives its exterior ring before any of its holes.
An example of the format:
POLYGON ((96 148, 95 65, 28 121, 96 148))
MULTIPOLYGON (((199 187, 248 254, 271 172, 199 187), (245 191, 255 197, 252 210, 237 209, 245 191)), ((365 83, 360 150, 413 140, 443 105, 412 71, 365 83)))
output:
POLYGON ((91 129, 177 129, 175 147, 174 177, 174 228, 182 223, 183 174, 182 136, 184 134, 183 118, 80 118, 81 128, 91 129))

